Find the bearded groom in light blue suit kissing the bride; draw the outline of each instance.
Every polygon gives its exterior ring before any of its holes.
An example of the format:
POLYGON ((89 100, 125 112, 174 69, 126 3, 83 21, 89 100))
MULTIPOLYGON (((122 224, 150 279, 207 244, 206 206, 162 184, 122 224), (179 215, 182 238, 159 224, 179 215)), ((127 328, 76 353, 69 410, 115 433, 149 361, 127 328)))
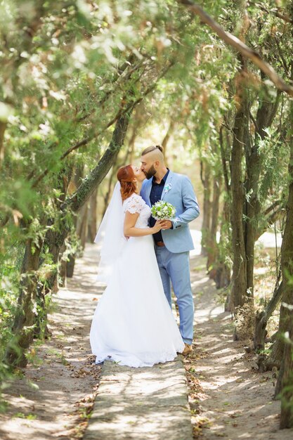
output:
MULTIPOLYGON (((183 355, 193 351, 193 294, 190 286, 189 251, 193 240, 188 223, 200 214, 190 179, 171 172, 164 164, 162 147, 145 148, 141 153, 141 170, 147 179, 143 181, 141 197, 151 207, 158 200, 165 200, 176 207, 176 218, 165 220, 162 231, 153 235, 157 264, 164 292, 171 307, 171 283, 177 298, 180 316, 180 332, 185 342, 183 355)), ((150 217, 150 227, 155 219, 150 217)))

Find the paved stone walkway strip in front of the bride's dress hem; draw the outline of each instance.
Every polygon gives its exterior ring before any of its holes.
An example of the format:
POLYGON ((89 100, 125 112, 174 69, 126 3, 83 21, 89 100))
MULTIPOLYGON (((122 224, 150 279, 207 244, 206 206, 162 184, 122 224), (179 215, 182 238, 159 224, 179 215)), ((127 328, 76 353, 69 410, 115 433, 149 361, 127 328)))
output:
POLYGON ((84 440, 192 440, 181 358, 143 368, 105 361, 84 440))

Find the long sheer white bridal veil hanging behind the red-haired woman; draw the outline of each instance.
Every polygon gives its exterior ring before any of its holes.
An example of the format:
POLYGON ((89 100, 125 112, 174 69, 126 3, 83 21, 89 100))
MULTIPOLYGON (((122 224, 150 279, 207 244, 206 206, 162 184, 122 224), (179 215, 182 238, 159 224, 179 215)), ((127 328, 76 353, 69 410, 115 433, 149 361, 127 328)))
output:
POLYGON ((96 281, 104 284, 108 284, 117 257, 127 241, 123 233, 124 212, 120 188, 120 183, 117 182, 94 240, 100 253, 96 281))

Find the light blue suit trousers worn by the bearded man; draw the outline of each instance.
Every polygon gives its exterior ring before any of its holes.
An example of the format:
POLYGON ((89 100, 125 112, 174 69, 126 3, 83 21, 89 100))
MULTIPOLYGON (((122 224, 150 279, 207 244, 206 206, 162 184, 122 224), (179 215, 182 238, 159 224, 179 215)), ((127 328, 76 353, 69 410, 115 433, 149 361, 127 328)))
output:
POLYGON ((186 344, 193 342, 193 293, 190 286, 189 252, 175 254, 167 247, 155 245, 159 273, 161 274, 164 292, 172 308, 171 283, 177 299, 180 332, 186 344))

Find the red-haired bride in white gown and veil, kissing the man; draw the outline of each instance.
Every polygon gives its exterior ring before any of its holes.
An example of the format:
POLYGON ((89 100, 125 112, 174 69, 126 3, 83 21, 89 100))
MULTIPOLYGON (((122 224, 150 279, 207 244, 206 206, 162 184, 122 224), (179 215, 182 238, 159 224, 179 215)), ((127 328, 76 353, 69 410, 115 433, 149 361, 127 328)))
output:
POLYGON ((105 359, 130 367, 173 361, 185 348, 164 295, 152 234, 150 207, 138 195, 145 174, 126 165, 117 173, 112 200, 98 230, 100 275, 107 283, 91 323, 96 363, 105 359))

